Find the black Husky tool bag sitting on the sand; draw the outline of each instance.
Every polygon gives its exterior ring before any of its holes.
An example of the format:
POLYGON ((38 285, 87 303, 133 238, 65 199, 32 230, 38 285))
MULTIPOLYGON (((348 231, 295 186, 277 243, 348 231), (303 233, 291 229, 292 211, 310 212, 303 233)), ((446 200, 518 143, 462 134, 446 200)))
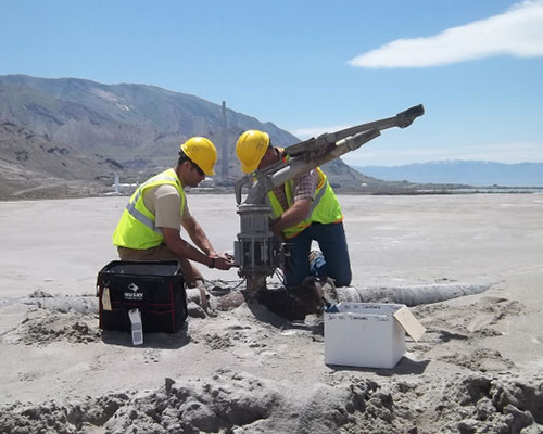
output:
POLYGON ((176 260, 114 260, 98 273, 100 328, 130 331, 139 309, 143 333, 177 332, 187 319, 187 294, 176 260))

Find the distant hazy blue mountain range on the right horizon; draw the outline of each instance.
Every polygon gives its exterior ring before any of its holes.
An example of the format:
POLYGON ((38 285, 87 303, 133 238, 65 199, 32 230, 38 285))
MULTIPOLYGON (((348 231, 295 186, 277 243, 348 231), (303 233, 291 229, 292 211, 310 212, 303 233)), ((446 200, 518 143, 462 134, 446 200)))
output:
POLYGON ((440 161, 403 166, 353 166, 389 181, 469 186, 543 187, 543 163, 503 164, 480 161, 440 161))

